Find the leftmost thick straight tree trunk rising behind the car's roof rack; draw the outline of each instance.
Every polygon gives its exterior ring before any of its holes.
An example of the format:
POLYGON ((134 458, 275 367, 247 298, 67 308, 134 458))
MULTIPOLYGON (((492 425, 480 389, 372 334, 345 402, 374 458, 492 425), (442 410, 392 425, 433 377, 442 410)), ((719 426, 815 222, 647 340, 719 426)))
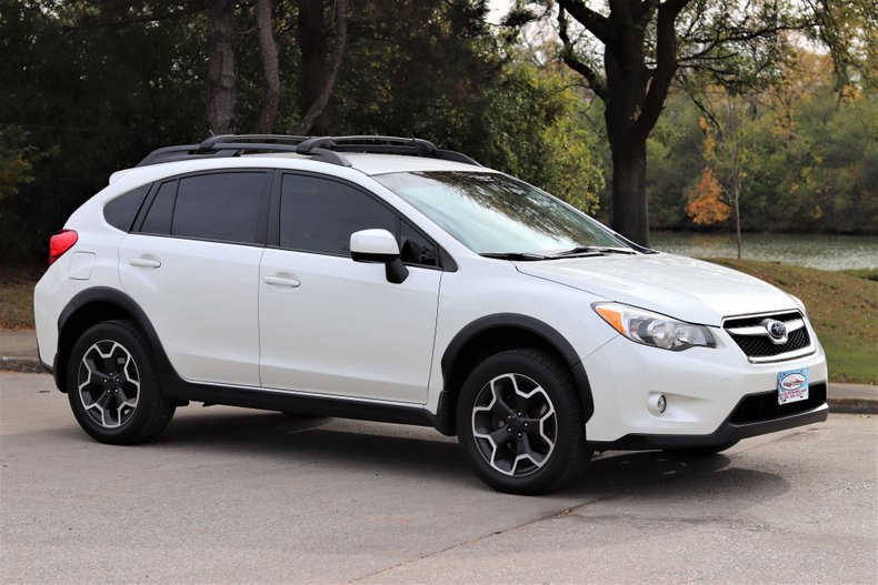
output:
POLYGON ((208 127, 232 132, 235 113, 235 1, 213 0, 208 10, 208 127))

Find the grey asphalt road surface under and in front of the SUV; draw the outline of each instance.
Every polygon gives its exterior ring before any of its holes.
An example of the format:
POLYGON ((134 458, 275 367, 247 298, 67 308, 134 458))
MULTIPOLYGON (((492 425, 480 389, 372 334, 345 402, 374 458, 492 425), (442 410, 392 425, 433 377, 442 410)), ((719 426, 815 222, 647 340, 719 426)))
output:
POLYGON ((193 405, 98 444, 0 374, 0 583, 878 582, 878 417, 498 494, 428 428, 193 405))

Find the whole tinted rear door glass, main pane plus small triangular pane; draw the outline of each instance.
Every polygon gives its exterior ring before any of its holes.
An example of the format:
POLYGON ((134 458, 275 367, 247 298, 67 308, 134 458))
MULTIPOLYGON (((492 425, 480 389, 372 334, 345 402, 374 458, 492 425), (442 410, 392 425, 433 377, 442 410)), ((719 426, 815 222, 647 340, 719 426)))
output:
POLYGON ((255 243, 266 176, 263 172, 226 172, 164 182, 140 231, 255 243))

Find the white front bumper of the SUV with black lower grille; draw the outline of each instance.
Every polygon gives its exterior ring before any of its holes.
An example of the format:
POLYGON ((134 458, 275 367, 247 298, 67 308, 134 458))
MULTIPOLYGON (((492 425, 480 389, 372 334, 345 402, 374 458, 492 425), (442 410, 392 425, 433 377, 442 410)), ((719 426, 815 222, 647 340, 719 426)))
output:
POLYGON ((751 364, 734 341, 721 332, 715 337, 715 349, 669 352, 619 336, 587 356, 582 365, 595 404, 588 441, 619 448, 717 446, 826 417, 819 343, 807 356, 751 364), (778 374, 799 369, 810 373, 809 399, 779 406, 778 374), (655 405, 662 395, 667 409, 659 413, 655 405))

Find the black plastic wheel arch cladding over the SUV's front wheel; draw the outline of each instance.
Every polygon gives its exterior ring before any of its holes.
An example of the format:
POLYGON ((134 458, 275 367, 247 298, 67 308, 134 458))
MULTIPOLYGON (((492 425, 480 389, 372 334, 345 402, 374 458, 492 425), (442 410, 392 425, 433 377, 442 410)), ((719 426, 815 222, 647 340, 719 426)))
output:
POLYGON ((448 344, 441 360, 445 381, 439 397, 436 427, 446 435, 457 434, 455 411, 460 389, 472 369, 495 353, 522 347, 543 350, 570 369, 582 409, 582 421, 595 412, 591 386, 582 360, 563 335, 551 325, 518 313, 497 313, 465 326, 448 344))

